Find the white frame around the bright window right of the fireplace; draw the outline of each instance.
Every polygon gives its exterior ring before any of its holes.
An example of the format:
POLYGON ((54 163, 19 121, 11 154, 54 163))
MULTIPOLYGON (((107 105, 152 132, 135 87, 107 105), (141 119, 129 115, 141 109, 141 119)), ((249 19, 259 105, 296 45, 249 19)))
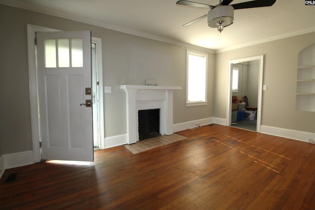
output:
POLYGON ((195 50, 190 50, 187 49, 187 54, 186 54, 186 106, 199 106, 199 105, 207 105, 207 87, 208 87, 208 54, 201 52, 201 51, 195 51, 195 50), (205 57, 206 60, 206 66, 205 66, 205 99, 202 101, 189 101, 189 54, 193 54, 196 56, 201 56, 205 57))

